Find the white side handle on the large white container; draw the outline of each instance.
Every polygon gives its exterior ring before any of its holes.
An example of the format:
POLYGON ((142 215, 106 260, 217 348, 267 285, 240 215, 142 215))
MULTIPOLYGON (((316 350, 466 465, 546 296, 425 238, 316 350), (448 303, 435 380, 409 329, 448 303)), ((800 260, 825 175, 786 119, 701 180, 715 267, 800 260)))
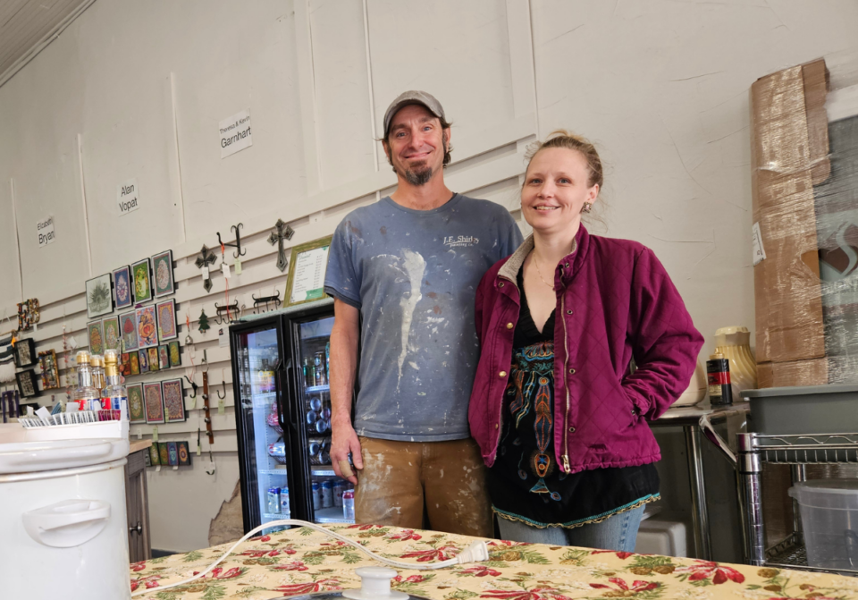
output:
POLYGON ((86 544, 104 530, 110 504, 101 500, 63 500, 21 515, 34 541, 53 548, 86 544))

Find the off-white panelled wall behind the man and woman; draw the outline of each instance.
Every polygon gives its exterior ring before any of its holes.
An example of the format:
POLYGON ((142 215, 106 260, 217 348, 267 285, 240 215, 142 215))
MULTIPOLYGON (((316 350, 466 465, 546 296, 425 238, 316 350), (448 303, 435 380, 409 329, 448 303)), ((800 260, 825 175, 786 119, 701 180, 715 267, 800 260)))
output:
MULTIPOLYGON (((84 344, 84 281, 170 248, 181 321, 196 321, 224 287, 215 275, 206 294, 193 258, 238 222, 248 255, 231 298, 282 290, 274 222, 310 241, 388 190, 384 109, 427 89, 454 122, 450 187, 510 209, 527 141, 559 127, 593 139, 609 234, 655 250, 708 353, 717 327, 753 327, 748 89, 842 55, 856 26, 852 0, 96 2, 0 88, 0 317, 37 297, 38 348, 62 351, 63 325, 84 344), (222 160, 217 123, 246 108, 254 145, 222 160), (143 207, 120 217, 130 177, 143 207), (39 249, 49 214, 57 239, 39 249)), ((192 334, 229 384, 216 332, 192 334)), ((199 414, 161 439, 193 439, 199 414)), ((214 426, 215 477, 199 463, 148 473, 157 548, 206 546, 231 494, 231 393, 214 426)))

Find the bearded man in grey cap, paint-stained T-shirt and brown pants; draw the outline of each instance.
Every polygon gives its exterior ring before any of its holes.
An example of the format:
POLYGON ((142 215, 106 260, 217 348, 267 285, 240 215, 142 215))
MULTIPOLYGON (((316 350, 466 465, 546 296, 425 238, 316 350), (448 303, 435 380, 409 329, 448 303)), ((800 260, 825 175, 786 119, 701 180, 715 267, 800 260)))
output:
POLYGON ((450 123, 438 100, 405 92, 383 123, 397 188, 346 215, 324 281, 335 317, 333 468, 357 484, 358 523, 422 528, 425 511, 433 529, 492 537, 467 426, 479 358, 474 301, 485 271, 517 249, 521 233, 503 207, 444 184, 450 123))

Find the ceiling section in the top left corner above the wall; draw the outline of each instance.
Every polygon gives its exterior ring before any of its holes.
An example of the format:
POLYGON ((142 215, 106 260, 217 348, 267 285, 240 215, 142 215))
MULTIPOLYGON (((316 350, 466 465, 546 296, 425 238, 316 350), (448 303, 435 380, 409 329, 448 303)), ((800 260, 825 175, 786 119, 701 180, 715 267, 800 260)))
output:
POLYGON ((92 0, 0 0, 0 85, 92 0))

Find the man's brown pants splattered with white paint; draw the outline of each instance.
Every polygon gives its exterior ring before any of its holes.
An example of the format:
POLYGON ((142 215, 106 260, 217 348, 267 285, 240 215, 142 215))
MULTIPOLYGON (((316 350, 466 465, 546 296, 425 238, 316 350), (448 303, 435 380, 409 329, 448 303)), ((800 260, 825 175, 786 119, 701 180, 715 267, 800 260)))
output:
POLYGON ((359 439, 364 469, 355 489, 358 523, 493 537, 485 467, 474 440, 359 439))

